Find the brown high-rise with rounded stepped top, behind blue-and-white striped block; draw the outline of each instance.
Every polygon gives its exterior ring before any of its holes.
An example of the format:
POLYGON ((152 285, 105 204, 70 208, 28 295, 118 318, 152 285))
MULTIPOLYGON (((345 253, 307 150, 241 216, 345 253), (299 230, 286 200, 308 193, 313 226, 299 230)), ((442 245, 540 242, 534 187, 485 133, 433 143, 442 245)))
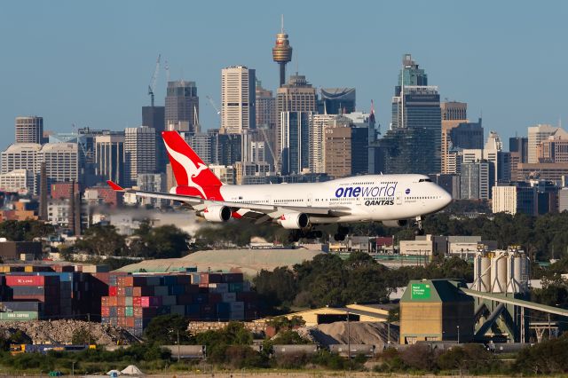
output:
MULTIPOLYGON (((282 150, 282 130, 280 130, 281 114, 283 112, 315 112, 317 109, 316 98, 316 89, 312 87, 311 83, 308 83, 304 75, 290 75, 288 83, 280 86, 276 95, 278 124, 274 151, 280 152, 282 150)), ((274 164, 278 165, 279 163, 275 161, 274 164)))

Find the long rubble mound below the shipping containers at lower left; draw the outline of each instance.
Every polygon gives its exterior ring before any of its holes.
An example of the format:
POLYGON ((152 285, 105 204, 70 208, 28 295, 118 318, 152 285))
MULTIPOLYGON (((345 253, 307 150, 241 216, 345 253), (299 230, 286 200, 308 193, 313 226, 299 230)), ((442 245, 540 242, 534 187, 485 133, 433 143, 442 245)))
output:
POLYGON ((128 344, 137 339, 120 327, 89 323, 81 320, 6 321, 0 323, 0 335, 9 337, 18 331, 27 335, 32 343, 71 343, 77 329, 86 328, 99 345, 128 344))

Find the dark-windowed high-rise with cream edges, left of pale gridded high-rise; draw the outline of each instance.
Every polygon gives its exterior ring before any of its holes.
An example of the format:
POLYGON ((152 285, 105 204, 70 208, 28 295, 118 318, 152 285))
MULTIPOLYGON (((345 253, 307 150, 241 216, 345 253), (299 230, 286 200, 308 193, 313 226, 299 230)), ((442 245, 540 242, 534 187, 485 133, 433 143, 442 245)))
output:
POLYGON ((124 182, 124 133, 108 132, 95 137, 95 174, 102 180, 124 182))

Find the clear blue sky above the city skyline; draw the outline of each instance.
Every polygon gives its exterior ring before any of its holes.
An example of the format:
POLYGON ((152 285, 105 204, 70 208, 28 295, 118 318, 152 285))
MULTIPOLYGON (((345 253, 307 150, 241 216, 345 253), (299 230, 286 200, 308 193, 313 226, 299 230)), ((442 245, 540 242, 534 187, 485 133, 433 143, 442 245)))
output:
MULTIPOLYGON (((483 112, 503 139, 534 123, 568 122, 568 3, 563 1, 12 1, 2 4, 0 148, 17 115, 46 130, 122 130, 141 123, 158 53, 171 80, 197 82, 201 124, 218 127, 206 95, 220 97, 221 68, 256 68, 274 89, 272 45, 280 13, 294 48, 288 72, 317 87, 357 88, 375 99, 386 130, 404 53, 442 98, 483 112)), ((162 65, 163 67, 163 65, 162 65)), ((156 104, 165 96, 160 72, 156 104)))

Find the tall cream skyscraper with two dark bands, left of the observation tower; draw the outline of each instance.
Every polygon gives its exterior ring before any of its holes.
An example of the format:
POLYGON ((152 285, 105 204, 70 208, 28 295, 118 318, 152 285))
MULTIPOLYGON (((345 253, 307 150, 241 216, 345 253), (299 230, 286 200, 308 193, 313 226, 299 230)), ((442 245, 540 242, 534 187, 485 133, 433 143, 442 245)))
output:
POLYGON ((232 66, 221 71, 221 129, 228 134, 256 128, 255 70, 232 66))

